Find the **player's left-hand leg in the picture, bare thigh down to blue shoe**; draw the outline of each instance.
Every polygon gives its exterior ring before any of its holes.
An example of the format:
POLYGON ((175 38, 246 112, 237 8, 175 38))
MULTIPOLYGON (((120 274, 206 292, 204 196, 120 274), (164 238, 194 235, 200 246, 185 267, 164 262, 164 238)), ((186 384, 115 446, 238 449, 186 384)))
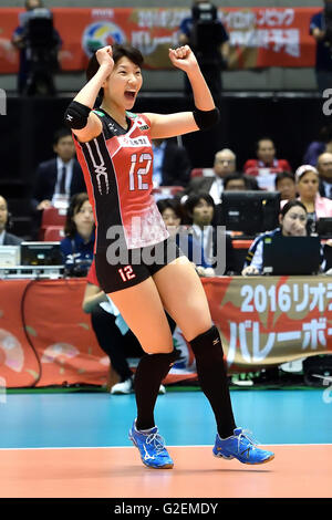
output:
POLYGON ((123 319, 139 341, 145 354, 135 374, 137 419, 129 438, 141 458, 154 468, 172 468, 169 457, 154 420, 159 386, 176 360, 169 324, 152 278, 110 294, 123 319))

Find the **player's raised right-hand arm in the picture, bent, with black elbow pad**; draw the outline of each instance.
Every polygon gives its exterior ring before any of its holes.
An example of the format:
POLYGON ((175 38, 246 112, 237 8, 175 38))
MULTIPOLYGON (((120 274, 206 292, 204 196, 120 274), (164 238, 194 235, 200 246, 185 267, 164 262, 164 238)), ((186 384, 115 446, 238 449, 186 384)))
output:
POLYGON ((195 54, 188 45, 169 49, 172 63, 186 72, 193 87, 194 112, 175 114, 145 114, 152 124, 152 137, 174 137, 198 129, 207 129, 218 122, 219 111, 215 106, 212 95, 201 74, 195 54))

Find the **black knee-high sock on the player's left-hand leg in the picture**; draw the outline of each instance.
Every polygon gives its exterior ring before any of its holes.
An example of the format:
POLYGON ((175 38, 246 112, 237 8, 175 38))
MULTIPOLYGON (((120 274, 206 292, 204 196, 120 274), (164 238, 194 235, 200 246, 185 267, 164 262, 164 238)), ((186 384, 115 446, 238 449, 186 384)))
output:
POLYGON ((178 351, 169 354, 144 354, 135 374, 135 395, 137 405, 136 428, 149 429, 155 426, 154 408, 162 381, 178 358, 178 351))

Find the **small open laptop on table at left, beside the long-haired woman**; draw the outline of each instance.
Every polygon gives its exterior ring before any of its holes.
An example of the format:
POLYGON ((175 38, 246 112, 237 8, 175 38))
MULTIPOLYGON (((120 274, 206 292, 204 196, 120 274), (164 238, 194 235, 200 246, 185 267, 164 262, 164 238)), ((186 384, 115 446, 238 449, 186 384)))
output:
POLYGON ((21 266, 63 266, 60 242, 22 242, 21 266))

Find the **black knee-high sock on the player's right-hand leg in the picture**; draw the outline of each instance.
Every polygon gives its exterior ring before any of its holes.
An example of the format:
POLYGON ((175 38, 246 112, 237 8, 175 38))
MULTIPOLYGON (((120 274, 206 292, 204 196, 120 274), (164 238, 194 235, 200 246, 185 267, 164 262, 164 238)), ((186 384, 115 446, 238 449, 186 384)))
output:
POLYGON ((218 434, 221 438, 230 437, 236 424, 218 329, 212 325, 190 341, 190 345, 196 357, 198 381, 215 413, 218 434))

